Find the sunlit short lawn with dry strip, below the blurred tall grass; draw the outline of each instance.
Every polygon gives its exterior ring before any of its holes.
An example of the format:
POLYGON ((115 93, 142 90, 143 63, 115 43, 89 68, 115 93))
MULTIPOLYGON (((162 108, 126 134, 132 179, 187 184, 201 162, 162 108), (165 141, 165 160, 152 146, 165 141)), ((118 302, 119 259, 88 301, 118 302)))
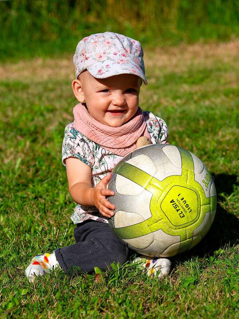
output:
POLYGON ((72 56, 0 64, 0 316, 3 318, 239 318, 239 40, 145 50, 140 105, 168 124, 170 143, 215 176, 214 224, 172 258, 161 281, 132 264, 29 284, 32 256, 74 242, 74 202, 61 164, 72 121, 72 56))

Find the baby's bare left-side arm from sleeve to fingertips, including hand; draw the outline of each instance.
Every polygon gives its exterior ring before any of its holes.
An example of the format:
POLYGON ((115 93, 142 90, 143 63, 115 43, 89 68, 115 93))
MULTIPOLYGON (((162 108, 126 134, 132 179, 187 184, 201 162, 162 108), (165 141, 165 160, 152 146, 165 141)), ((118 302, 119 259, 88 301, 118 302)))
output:
POLYGON ((92 188, 91 167, 80 159, 67 158, 66 172, 70 195, 76 203, 84 206, 96 206, 103 216, 113 216, 111 210, 114 210, 115 206, 106 199, 106 196, 114 195, 113 191, 106 189, 111 177, 110 173, 92 188))

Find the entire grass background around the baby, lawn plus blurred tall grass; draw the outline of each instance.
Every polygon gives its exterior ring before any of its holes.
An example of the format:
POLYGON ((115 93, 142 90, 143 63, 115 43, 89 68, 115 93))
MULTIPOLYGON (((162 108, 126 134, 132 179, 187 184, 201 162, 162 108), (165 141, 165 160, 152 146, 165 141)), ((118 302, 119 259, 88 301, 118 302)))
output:
POLYGON ((238 8, 236 0, 0 1, 0 318, 239 318, 238 8), (29 285, 33 256, 74 243, 61 163, 76 104, 72 56, 83 36, 106 30, 142 42, 140 106, 214 174, 215 220, 162 281, 128 263, 102 283, 58 269, 29 285))

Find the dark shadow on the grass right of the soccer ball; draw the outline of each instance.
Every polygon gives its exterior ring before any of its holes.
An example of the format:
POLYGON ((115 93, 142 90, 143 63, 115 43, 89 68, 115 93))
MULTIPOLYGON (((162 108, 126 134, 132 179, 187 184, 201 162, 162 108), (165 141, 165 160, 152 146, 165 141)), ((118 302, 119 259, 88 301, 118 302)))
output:
MULTIPOLYGON (((238 185, 236 175, 214 174, 215 186, 217 190, 217 200, 225 200, 220 194, 230 195, 233 192, 233 185, 238 185)), ((192 256, 212 256, 214 252, 226 245, 233 246, 239 239, 239 218, 228 213, 217 203, 214 222, 206 236, 198 245, 188 252, 174 257, 173 263, 186 261, 192 256)))

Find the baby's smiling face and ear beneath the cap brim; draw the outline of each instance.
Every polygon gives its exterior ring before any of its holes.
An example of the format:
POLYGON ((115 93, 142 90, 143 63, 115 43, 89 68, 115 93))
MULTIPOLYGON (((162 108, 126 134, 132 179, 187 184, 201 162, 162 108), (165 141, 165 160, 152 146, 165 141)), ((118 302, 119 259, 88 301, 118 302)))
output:
POLYGON ((119 127, 137 112, 141 78, 120 74, 105 79, 94 78, 85 71, 83 81, 73 80, 73 92, 79 102, 86 102, 88 111, 99 122, 119 127))

